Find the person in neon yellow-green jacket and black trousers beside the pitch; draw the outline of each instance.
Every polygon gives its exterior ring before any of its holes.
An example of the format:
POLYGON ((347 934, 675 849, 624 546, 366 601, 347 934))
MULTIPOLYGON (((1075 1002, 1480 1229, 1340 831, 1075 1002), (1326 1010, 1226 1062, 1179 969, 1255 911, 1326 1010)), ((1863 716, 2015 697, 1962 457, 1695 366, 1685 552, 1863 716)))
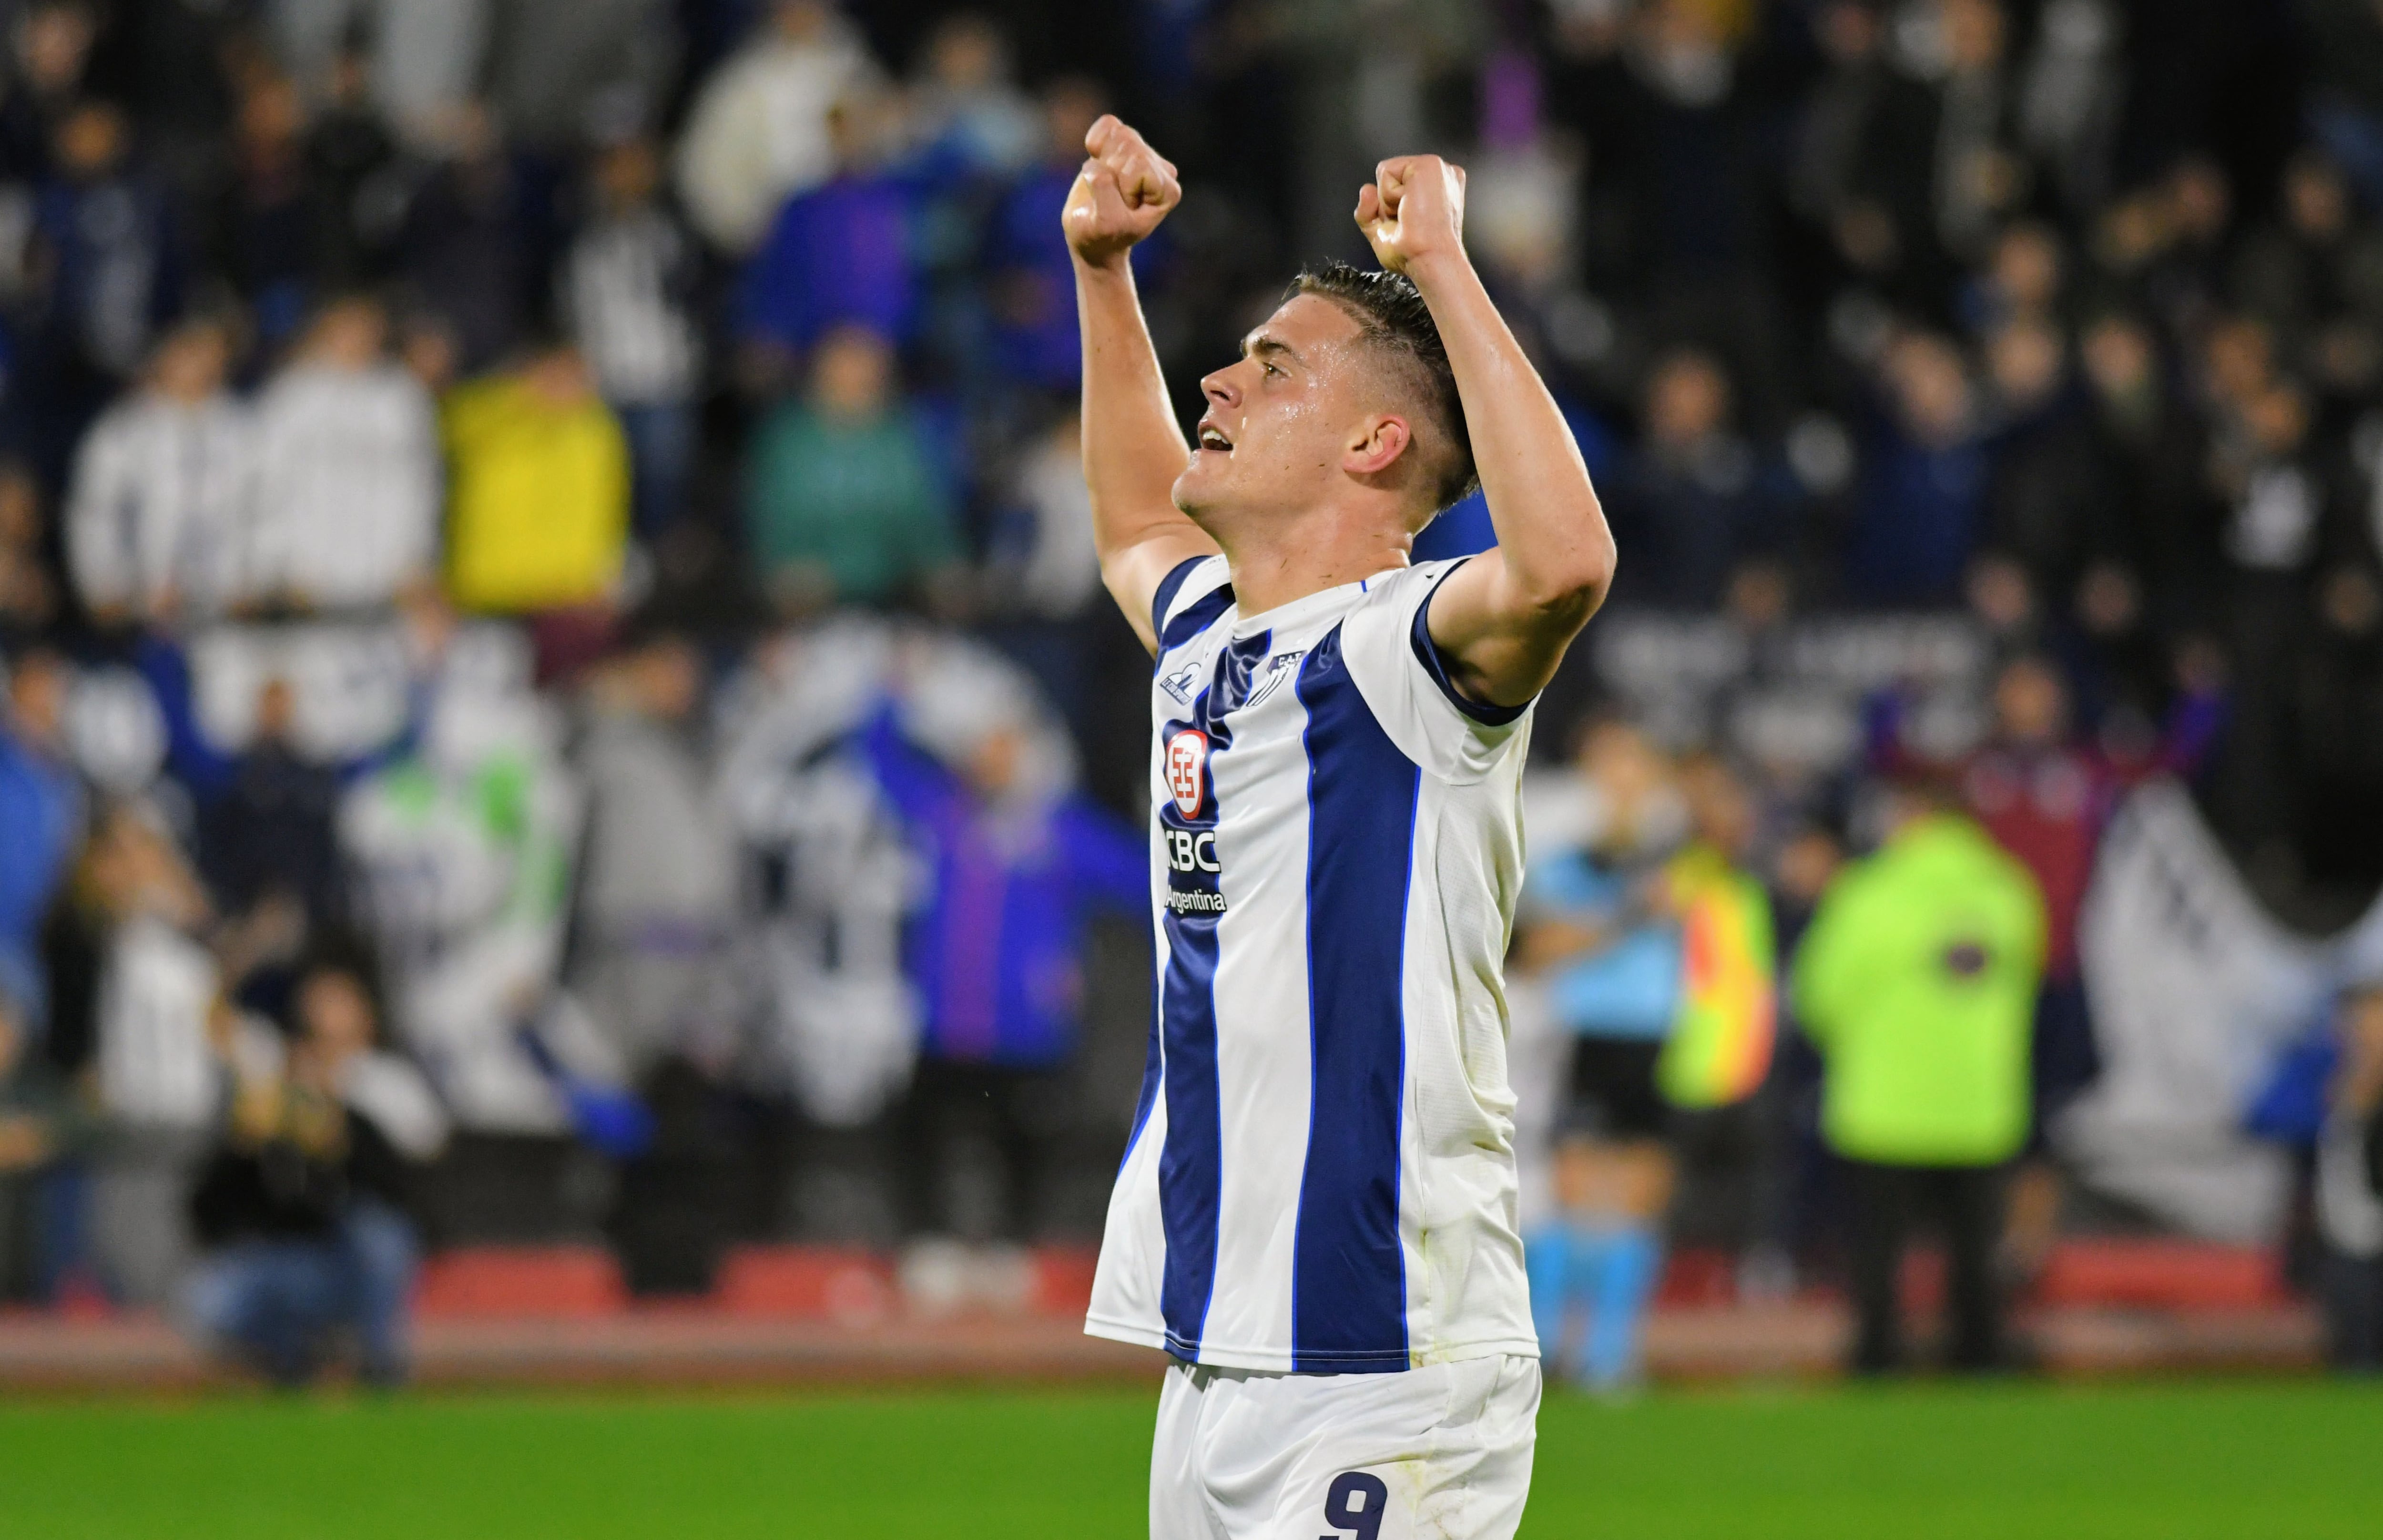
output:
POLYGON ((1790 975, 1821 1051, 1821 1132, 1852 1173, 1856 1373, 1902 1366, 1894 1280, 1914 1218, 1952 1254, 1952 1366, 2002 1361, 2002 1166, 2028 1137, 2045 899, 1945 787, 1892 791, 1887 842, 1821 896, 1790 975))

